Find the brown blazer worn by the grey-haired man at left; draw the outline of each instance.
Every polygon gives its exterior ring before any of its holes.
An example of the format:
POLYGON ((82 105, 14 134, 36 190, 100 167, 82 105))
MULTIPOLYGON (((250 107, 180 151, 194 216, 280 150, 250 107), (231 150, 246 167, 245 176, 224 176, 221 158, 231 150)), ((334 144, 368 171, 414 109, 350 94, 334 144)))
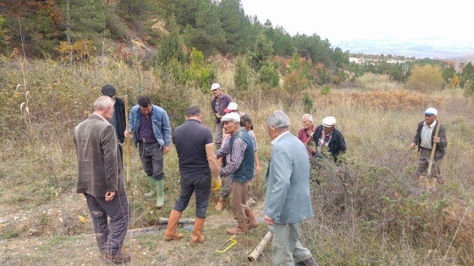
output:
POLYGON ((78 161, 77 192, 93 197, 125 193, 124 175, 117 157, 115 129, 98 115, 91 115, 74 128, 78 161))

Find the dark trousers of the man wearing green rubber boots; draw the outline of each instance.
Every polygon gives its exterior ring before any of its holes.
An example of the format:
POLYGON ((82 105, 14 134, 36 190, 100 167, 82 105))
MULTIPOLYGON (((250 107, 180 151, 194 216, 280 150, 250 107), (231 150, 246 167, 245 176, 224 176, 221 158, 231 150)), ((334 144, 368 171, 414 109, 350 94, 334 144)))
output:
POLYGON ((152 176, 155 180, 165 178, 163 173, 163 149, 158 142, 151 144, 139 142, 139 155, 141 164, 146 175, 152 176))

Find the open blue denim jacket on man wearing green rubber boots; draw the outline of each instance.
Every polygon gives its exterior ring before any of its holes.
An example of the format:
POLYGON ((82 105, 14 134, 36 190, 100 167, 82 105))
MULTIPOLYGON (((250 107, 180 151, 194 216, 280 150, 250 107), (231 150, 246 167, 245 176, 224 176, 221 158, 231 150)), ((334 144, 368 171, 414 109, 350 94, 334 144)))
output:
MULTIPOLYGON (((156 141, 160 144, 161 149, 163 146, 170 146, 171 142, 171 126, 168 114, 163 108, 153 105, 151 108, 151 123, 153 125, 153 134, 156 141)), ((140 107, 135 105, 130 109, 129 112, 129 127, 133 131, 134 144, 137 146, 138 143, 138 127, 140 125, 140 107)))

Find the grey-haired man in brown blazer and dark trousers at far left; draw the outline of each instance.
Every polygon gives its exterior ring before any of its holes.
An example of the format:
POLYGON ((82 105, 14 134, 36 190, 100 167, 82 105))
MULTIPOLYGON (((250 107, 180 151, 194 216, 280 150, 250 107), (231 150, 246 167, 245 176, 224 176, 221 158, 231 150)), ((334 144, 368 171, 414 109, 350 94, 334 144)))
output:
POLYGON ((130 255, 120 249, 129 224, 129 205, 122 160, 117 156, 118 141, 109 122, 113 112, 113 100, 100 96, 93 114, 74 128, 77 192, 86 197, 100 255, 111 262, 127 262, 130 255))

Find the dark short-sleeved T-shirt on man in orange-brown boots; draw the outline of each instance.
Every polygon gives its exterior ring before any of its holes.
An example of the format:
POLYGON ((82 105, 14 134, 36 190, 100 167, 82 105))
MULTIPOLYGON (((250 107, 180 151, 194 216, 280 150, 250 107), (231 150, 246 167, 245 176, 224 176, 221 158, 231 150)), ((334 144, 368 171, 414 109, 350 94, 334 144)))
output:
POLYGON ((173 132, 173 143, 178 152, 180 171, 209 173, 206 145, 212 143, 212 133, 197 120, 187 120, 173 132))

